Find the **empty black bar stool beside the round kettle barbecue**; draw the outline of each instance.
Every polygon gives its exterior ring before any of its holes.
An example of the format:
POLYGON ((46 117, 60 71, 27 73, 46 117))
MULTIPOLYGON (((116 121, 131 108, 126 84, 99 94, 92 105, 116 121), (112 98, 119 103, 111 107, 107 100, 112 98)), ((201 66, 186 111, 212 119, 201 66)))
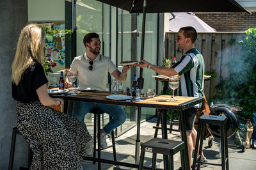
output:
POLYGON ((200 169, 200 164, 211 164, 215 166, 221 166, 221 169, 228 170, 228 142, 227 142, 227 117, 226 116, 214 116, 214 115, 207 115, 204 114, 199 118, 199 127, 198 127, 198 134, 196 136, 196 146, 195 146, 195 153, 193 158, 193 166, 192 169, 194 170, 197 163, 197 169, 200 169), (221 134, 220 134, 220 141, 221 141, 221 164, 213 164, 213 163, 204 163, 201 160, 201 153, 203 147, 203 139, 204 139, 204 132, 205 132, 205 124, 214 124, 220 125, 221 134), (198 152, 198 145, 200 139, 200 148, 198 152), (199 153, 198 156, 197 153, 199 153))

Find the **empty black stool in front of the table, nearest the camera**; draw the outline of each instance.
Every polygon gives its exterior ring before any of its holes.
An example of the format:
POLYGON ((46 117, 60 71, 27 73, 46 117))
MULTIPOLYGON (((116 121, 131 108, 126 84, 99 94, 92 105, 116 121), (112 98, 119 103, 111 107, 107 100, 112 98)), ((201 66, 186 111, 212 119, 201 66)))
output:
POLYGON ((173 155, 180 151, 180 158, 182 160, 181 165, 184 166, 185 157, 184 157, 185 144, 183 141, 173 141, 169 139, 159 139, 153 138, 147 141, 146 143, 141 144, 141 154, 140 154, 140 163, 139 169, 143 169, 143 163, 145 158, 145 151, 152 152, 152 169, 156 169, 156 154, 160 153, 163 155, 168 155, 168 167, 164 166, 164 169, 173 169, 173 155))

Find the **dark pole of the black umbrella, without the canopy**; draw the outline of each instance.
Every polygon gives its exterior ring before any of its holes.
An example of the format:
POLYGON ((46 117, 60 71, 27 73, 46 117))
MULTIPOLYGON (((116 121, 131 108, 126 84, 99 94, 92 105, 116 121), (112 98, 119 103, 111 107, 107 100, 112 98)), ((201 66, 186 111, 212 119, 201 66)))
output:
MULTIPOLYGON (((145 42, 145 23, 146 23, 146 8, 147 0, 143 1, 143 19, 142 19, 142 33, 141 33, 141 55, 140 59, 144 56, 144 42, 145 42)), ((144 79, 143 79, 143 68, 140 68, 140 77, 138 78, 138 88, 143 89, 144 79)))

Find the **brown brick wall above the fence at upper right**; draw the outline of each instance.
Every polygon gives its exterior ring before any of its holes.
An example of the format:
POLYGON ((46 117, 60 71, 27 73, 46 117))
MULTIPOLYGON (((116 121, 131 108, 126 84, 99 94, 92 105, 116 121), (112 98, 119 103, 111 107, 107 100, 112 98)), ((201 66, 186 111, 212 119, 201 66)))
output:
POLYGON ((216 31, 246 31, 256 27, 256 12, 248 13, 195 13, 216 31))

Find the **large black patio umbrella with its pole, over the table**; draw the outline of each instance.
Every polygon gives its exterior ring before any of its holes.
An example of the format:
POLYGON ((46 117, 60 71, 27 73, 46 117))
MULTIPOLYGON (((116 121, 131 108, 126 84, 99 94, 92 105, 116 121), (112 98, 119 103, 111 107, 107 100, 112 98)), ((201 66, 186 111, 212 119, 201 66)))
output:
MULTIPOLYGON (((141 59, 144 55, 146 13, 164 12, 247 12, 234 0, 97 0, 130 13, 143 13, 141 33, 141 59)), ((140 68, 138 88, 143 88, 143 69, 140 68)))

